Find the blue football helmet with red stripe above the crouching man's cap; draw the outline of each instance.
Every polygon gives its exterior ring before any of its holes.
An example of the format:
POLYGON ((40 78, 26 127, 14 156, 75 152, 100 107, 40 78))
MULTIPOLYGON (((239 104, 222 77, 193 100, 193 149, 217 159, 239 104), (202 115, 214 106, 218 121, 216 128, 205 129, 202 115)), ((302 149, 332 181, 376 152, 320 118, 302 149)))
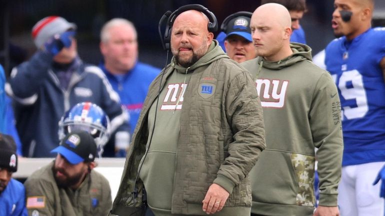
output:
POLYGON ((59 121, 59 139, 78 130, 87 131, 95 139, 98 156, 101 157, 109 139, 109 119, 105 112, 91 102, 74 105, 59 121))

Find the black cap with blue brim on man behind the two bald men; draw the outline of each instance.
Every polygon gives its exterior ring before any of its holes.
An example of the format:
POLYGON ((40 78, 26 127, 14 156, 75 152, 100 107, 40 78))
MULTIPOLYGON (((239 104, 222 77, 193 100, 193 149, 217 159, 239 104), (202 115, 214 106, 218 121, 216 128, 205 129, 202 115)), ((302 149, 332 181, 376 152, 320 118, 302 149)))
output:
POLYGON ((250 18, 247 16, 237 16, 227 23, 226 38, 230 35, 239 35, 252 42, 250 18))

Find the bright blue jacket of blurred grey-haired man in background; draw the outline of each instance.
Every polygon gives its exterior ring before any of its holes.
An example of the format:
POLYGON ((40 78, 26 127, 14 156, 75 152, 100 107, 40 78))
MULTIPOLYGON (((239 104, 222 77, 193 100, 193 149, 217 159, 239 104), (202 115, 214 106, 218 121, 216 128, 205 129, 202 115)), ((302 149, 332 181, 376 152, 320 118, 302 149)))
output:
POLYGON ((104 71, 113 90, 119 94, 121 104, 127 109, 131 126, 130 134, 133 134, 148 87, 159 74, 160 68, 137 62, 127 73, 113 75, 105 69, 103 62, 99 64, 99 67, 104 71))

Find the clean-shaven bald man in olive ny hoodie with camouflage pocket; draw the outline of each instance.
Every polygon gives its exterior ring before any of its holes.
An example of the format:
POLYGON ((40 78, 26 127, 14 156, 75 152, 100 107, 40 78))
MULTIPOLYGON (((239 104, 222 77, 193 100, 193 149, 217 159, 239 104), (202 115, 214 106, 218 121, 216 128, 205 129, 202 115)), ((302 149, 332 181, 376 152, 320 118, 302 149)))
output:
POLYGON ((250 172, 251 215, 338 216, 343 143, 335 84, 311 62, 310 47, 289 43, 285 7, 261 5, 250 27, 259 57, 242 65, 251 72, 260 96, 267 147, 250 172), (315 156, 320 192, 314 212, 315 156))

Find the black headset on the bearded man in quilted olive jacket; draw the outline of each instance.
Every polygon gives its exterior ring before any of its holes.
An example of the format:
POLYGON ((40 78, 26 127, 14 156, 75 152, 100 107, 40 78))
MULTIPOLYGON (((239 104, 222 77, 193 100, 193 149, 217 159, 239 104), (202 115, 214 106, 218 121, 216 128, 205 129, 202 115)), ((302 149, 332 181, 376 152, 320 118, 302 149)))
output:
POLYGON ((178 16, 180 13, 187 11, 187 10, 197 10, 197 11, 202 12, 204 15, 206 15, 208 18, 207 29, 209 32, 215 32, 216 30, 218 30, 218 22, 216 21, 215 15, 211 11, 209 11, 206 7, 204 7, 200 4, 187 4, 187 5, 179 7, 178 9, 176 9, 173 12, 168 10, 160 18, 159 26, 158 26, 160 40, 162 41, 162 45, 163 45, 163 48, 165 50, 170 49, 171 29, 172 29, 172 25, 175 21, 176 16, 178 16), (160 32, 160 26, 161 26, 161 24, 165 18, 167 18, 167 23, 165 26, 164 36, 162 36, 161 32, 160 32))

